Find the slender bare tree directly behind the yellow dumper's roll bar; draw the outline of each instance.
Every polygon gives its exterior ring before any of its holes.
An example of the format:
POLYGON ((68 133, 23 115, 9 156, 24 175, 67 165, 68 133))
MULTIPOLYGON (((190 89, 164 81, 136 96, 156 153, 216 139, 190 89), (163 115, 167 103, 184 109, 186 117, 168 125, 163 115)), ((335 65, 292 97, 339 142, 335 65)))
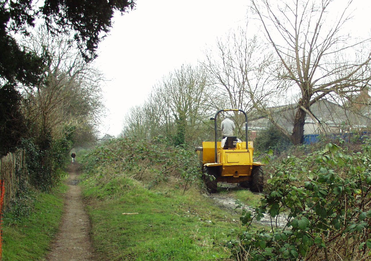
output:
MULTIPOLYGON (((205 66, 212 77, 211 84, 222 100, 219 99, 219 104, 214 107, 232 107, 242 109, 252 117, 269 117, 266 108, 277 105, 275 101, 284 90, 271 87, 277 65, 258 37, 249 37, 249 34, 247 26, 239 27, 217 40, 216 55, 212 51, 206 53, 205 66)), ((236 122, 243 122, 239 116, 243 115, 234 115, 236 122)))

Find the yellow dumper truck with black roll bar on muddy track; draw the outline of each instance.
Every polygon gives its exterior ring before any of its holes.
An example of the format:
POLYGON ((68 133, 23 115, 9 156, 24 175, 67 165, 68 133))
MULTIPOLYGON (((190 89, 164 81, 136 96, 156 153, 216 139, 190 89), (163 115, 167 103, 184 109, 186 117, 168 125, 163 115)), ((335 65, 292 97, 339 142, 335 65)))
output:
POLYGON ((196 147, 203 170, 203 180, 210 192, 217 191, 217 182, 239 183, 250 187, 251 191, 263 191, 264 173, 260 162, 253 162, 253 142, 247 139, 247 114, 239 109, 223 109, 216 112, 214 118, 215 140, 203 141, 202 147, 196 147), (217 116, 223 111, 240 111, 245 115, 245 136, 247 141, 237 137, 227 137, 225 145, 217 141, 217 116))

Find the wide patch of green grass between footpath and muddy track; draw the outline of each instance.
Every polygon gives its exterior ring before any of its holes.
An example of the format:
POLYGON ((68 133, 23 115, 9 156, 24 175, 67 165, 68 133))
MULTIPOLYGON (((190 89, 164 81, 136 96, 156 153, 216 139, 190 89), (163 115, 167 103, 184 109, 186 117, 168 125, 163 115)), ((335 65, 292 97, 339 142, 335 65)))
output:
POLYGON ((124 175, 84 186, 100 260, 229 260, 224 243, 231 229, 243 229, 239 215, 196 189, 148 190, 124 175))

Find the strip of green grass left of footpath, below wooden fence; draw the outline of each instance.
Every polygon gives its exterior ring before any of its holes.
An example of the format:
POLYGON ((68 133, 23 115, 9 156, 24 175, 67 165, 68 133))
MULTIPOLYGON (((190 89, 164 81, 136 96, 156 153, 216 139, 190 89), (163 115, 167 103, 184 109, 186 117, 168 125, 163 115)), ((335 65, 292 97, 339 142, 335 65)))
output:
POLYGON ((15 218, 5 213, 3 218, 3 260, 43 260, 49 244, 58 231, 63 212, 66 185, 51 193, 35 192, 34 211, 29 216, 15 218))

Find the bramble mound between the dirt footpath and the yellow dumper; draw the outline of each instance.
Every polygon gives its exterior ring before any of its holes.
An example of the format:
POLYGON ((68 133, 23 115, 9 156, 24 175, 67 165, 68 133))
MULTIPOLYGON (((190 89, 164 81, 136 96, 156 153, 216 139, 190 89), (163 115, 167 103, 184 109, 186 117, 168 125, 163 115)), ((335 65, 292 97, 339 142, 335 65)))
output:
POLYGON ((138 140, 135 137, 111 139, 83 157, 85 173, 111 179, 129 173, 138 180, 147 179, 150 188, 171 175, 180 178, 184 189, 200 180, 198 157, 193 150, 174 147, 166 137, 138 140), (112 168, 110 174, 102 171, 112 168))

